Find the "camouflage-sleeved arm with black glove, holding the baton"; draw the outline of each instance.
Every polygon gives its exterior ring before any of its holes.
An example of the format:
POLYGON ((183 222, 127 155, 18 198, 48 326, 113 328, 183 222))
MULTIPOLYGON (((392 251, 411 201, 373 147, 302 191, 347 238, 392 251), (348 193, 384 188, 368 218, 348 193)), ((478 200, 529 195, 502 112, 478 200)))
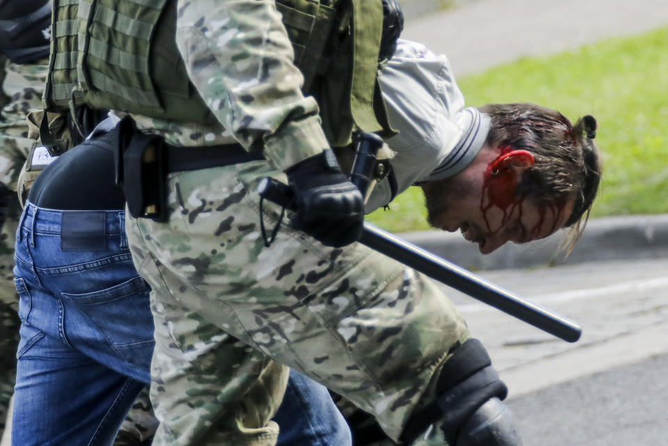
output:
POLYGON ((214 115, 246 150, 285 171, 294 228, 327 246, 359 239, 363 198, 343 175, 273 1, 179 0, 177 45, 189 77, 214 115))

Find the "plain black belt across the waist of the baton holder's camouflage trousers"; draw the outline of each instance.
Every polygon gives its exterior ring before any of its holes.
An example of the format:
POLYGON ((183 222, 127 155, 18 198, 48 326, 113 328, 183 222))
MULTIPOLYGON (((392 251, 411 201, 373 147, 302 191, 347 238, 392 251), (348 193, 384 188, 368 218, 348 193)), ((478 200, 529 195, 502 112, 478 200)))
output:
POLYGON ((248 152, 240 144, 178 147, 166 144, 166 173, 230 166, 264 159, 262 150, 248 152))

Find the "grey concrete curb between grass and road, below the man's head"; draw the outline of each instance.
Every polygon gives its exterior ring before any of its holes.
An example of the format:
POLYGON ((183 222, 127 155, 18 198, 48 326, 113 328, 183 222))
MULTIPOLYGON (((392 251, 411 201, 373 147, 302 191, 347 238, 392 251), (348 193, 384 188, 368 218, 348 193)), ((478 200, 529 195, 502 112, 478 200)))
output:
POLYGON ((606 260, 668 257, 668 214, 596 218, 587 223, 571 255, 555 255, 564 231, 526 245, 506 244, 482 255, 461 234, 407 232, 399 237, 470 270, 532 268, 606 260))

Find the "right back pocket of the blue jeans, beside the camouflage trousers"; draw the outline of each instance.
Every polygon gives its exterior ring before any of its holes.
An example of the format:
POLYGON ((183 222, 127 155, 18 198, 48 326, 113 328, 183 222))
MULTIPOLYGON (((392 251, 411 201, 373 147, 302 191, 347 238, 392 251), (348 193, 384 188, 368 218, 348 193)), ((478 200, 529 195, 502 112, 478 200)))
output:
POLYGON ((99 291, 62 296, 86 314, 122 360, 148 366, 154 346, 149 293, 148 284, 136 276, 99 291))

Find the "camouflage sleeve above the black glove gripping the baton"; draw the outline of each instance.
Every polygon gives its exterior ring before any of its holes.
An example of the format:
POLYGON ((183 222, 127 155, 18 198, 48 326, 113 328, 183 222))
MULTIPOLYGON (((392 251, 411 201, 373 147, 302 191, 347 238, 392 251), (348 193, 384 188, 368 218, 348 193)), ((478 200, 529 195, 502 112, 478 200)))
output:
POLYGON ((328 147, 273 1, 179 0, 177 45, 227 132, 278 168, 328 147))

